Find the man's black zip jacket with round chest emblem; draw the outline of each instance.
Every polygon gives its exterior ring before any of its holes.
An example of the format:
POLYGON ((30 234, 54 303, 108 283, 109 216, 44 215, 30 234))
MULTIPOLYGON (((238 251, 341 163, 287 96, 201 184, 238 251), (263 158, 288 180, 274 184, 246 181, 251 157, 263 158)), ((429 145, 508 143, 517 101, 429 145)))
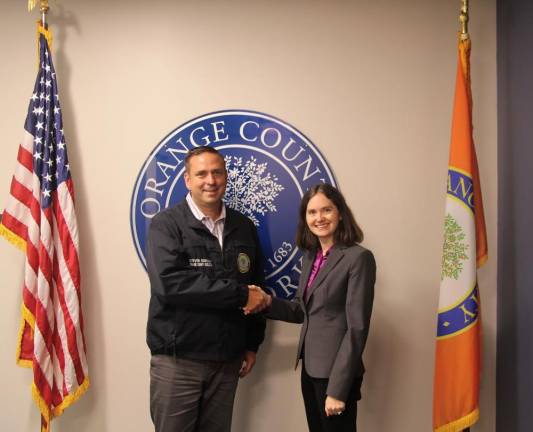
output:
POLYGON ((152 354, 225 361, 257 351, 265 321, 241 310, 248 284, 264 286, 253 223, 226 208, 223 250, 186 200, 157 214, 148 233, 152 354))

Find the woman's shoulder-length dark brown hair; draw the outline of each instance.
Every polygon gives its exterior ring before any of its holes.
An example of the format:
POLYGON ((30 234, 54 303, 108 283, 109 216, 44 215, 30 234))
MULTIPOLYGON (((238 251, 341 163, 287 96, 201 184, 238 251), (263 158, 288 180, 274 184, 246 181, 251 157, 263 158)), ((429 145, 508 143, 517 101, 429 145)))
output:
POLYGON ((363 230, 357 225, 350 207, 346 204, 344 196, 340 191, 330 184, 321 183, 311 187, 302 197, 298 218, 298 228, 296 230, 296 245, 303 250, 316 250, 320 248, 318 238, 307 226, 306 213, 307 205, 311 198, 321 193, 328 198, 339 211, 339 225, 334 234, 335 244, 343 246, 354 246, 363 241, 363 230))

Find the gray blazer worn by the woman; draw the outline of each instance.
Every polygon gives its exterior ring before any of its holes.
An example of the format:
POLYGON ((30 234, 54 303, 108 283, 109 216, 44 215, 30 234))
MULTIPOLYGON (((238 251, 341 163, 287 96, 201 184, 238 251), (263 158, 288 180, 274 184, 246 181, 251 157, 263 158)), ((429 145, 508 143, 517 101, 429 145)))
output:
POLYGON ((273 297, 265 315, 303 323, 296 366, 303 354, 307 373, 329 378, 327 394, 346 401, 355 379, 364 373, 362 354, 372 314, 376 262, 362 246, 333 246, 304 301, 314 259, 313 252, 304 254, 295 298, 273 297))

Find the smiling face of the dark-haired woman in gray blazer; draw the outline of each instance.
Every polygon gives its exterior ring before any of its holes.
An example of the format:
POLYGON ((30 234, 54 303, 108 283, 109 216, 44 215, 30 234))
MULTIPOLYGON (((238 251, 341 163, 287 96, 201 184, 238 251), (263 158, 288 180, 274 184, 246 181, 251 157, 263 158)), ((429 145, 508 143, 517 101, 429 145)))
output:
POLYGON ((333 244, 335 231, 339 225, 339 209, 323 193, 319 192, 309 200, 305 220, 322 245, 333 244))

